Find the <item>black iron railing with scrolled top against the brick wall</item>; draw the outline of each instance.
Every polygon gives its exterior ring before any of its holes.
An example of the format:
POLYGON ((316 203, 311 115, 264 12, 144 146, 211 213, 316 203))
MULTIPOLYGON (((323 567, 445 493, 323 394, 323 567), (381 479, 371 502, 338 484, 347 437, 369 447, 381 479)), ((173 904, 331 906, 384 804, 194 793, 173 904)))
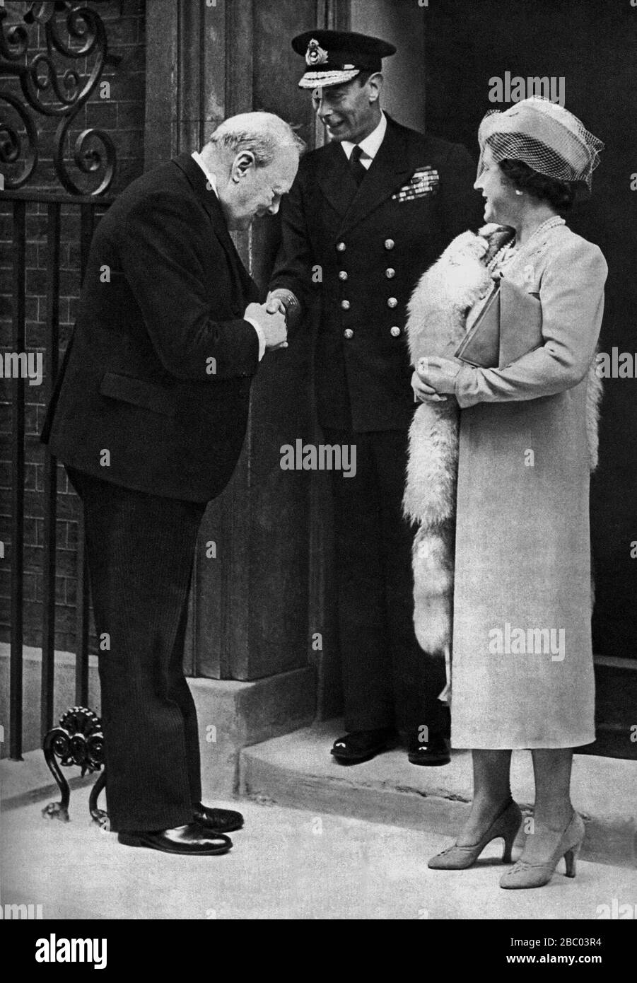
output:
MULTIPOLYGON (((0 3, 0 203, 11 202, 12 348, 26 352, 28 310, 29 207, 46 210, 46 335, 44 358, 46 394, 50 398, 58 373, 60 238, 65 206, 80 211, 80 274, 84 279, 88 247, 96 210, 112 199, 103 196, 113 182, 116 148, 111 136, 99 128, 82 130, 75 142, 73 128, 106 67, 121 57, 109 51, 103 5, 87 0, 55 3, 0 3), (52 146, 49 127, 57 121, 52 146), (65 193, 29 189, 32 182, 50 183, 46 168, 53 165, 54 180, 65 193)), ((119 4, 122 15, 122 3, 119 4)), ((36 186, 37 188, 37 186, 36 186)), ((66 212, 64 213, 66 214, 66 212)), ((39 265, 39 263, 38 263, 39 265)), ((74 291, 75 292, 75 291, 74 291)), ((79 293, 79 290, 78 290, 79 293)), ((38 291, 41 295, 41 290, 38 291)), ((66 292, 65 292, 66 296, 66 292)), ((38 346, 40 347, 40 346, 38 346)), ((18 374, 21 375, 20 373, 18 374)), ((25 380, 12 380, 12 492, 11 492, 11 655, 9 753, 20 759, 23 751, 23 643, 25 637, 25 380)), ((42 666, 41 733, 53 723, 55 656, 56 523, 58 514, 57 461, 48 450, 44 458, 42 550, 42 666)), ((79 523, 78 593, 76 619, 76 703, 87 703, 88 688, 88 583, 82 518, 79 523)), ((28 570, 27 573, 30 571, 28 570)), ((32 626, 29 623, 29 629, 32 626)))

